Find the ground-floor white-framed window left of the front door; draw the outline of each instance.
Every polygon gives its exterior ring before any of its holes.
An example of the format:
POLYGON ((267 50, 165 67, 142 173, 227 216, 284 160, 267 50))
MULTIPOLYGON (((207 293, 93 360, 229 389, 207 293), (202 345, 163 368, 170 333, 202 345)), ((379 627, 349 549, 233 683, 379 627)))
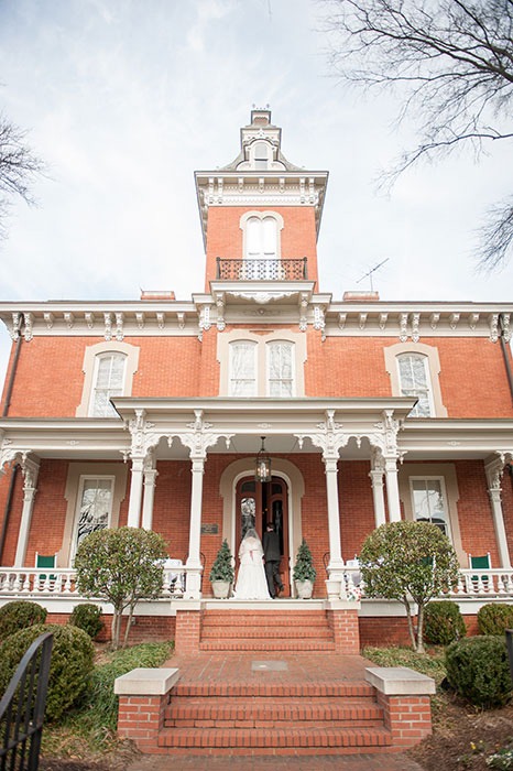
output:
POLYGON ((80 541, 109 526, 114 477, 80 477, 73 554, 80 541))

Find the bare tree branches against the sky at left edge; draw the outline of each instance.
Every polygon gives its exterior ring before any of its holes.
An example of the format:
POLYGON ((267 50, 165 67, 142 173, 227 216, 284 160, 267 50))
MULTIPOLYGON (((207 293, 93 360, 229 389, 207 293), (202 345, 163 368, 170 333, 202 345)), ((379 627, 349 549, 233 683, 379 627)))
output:
POLYGON ((6 237, 6 219, 12 200, 35 203, 31 185, 44 173, 43 162, 26 144, 26 131, 0 113, 0 238, 6 237))

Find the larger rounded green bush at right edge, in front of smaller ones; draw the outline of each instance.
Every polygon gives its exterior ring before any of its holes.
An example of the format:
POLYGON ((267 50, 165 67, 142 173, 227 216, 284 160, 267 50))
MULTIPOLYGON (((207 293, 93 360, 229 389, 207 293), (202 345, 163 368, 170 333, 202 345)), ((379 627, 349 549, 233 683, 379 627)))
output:
POLYGON ((446 649, 447 680, 478 707, 502 706, 511 696, 511 675, 505 640, 469 637, 446 649))

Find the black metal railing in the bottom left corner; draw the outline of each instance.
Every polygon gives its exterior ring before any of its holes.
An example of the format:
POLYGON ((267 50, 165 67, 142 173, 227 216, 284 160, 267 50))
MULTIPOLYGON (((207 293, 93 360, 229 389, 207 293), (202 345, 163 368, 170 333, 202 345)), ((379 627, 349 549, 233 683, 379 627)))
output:
POLYGON ((37 771, 54 636, 29 648, 0 702, 0 771, 37 771))

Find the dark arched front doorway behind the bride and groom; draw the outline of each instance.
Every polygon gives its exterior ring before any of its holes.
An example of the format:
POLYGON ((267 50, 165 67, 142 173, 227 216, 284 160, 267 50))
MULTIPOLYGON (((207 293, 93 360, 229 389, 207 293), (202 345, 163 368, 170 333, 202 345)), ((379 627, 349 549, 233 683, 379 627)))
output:
MULTIPOLYGON (((240 544, 249 528, 254 528, 263 539, 268 523, 274 524, 280 537, 280 575, 283 595, 291 596, 288 574, 288 489, 281 477, 272 477, 270 482, 258 482, 254 476, 243 477, 237 485, 236 496, 236 543, 240 544)), ((238 547, 237 547, 238 550, 238 547)), ((237 564, 239 557, 237 556, 237 564)))

